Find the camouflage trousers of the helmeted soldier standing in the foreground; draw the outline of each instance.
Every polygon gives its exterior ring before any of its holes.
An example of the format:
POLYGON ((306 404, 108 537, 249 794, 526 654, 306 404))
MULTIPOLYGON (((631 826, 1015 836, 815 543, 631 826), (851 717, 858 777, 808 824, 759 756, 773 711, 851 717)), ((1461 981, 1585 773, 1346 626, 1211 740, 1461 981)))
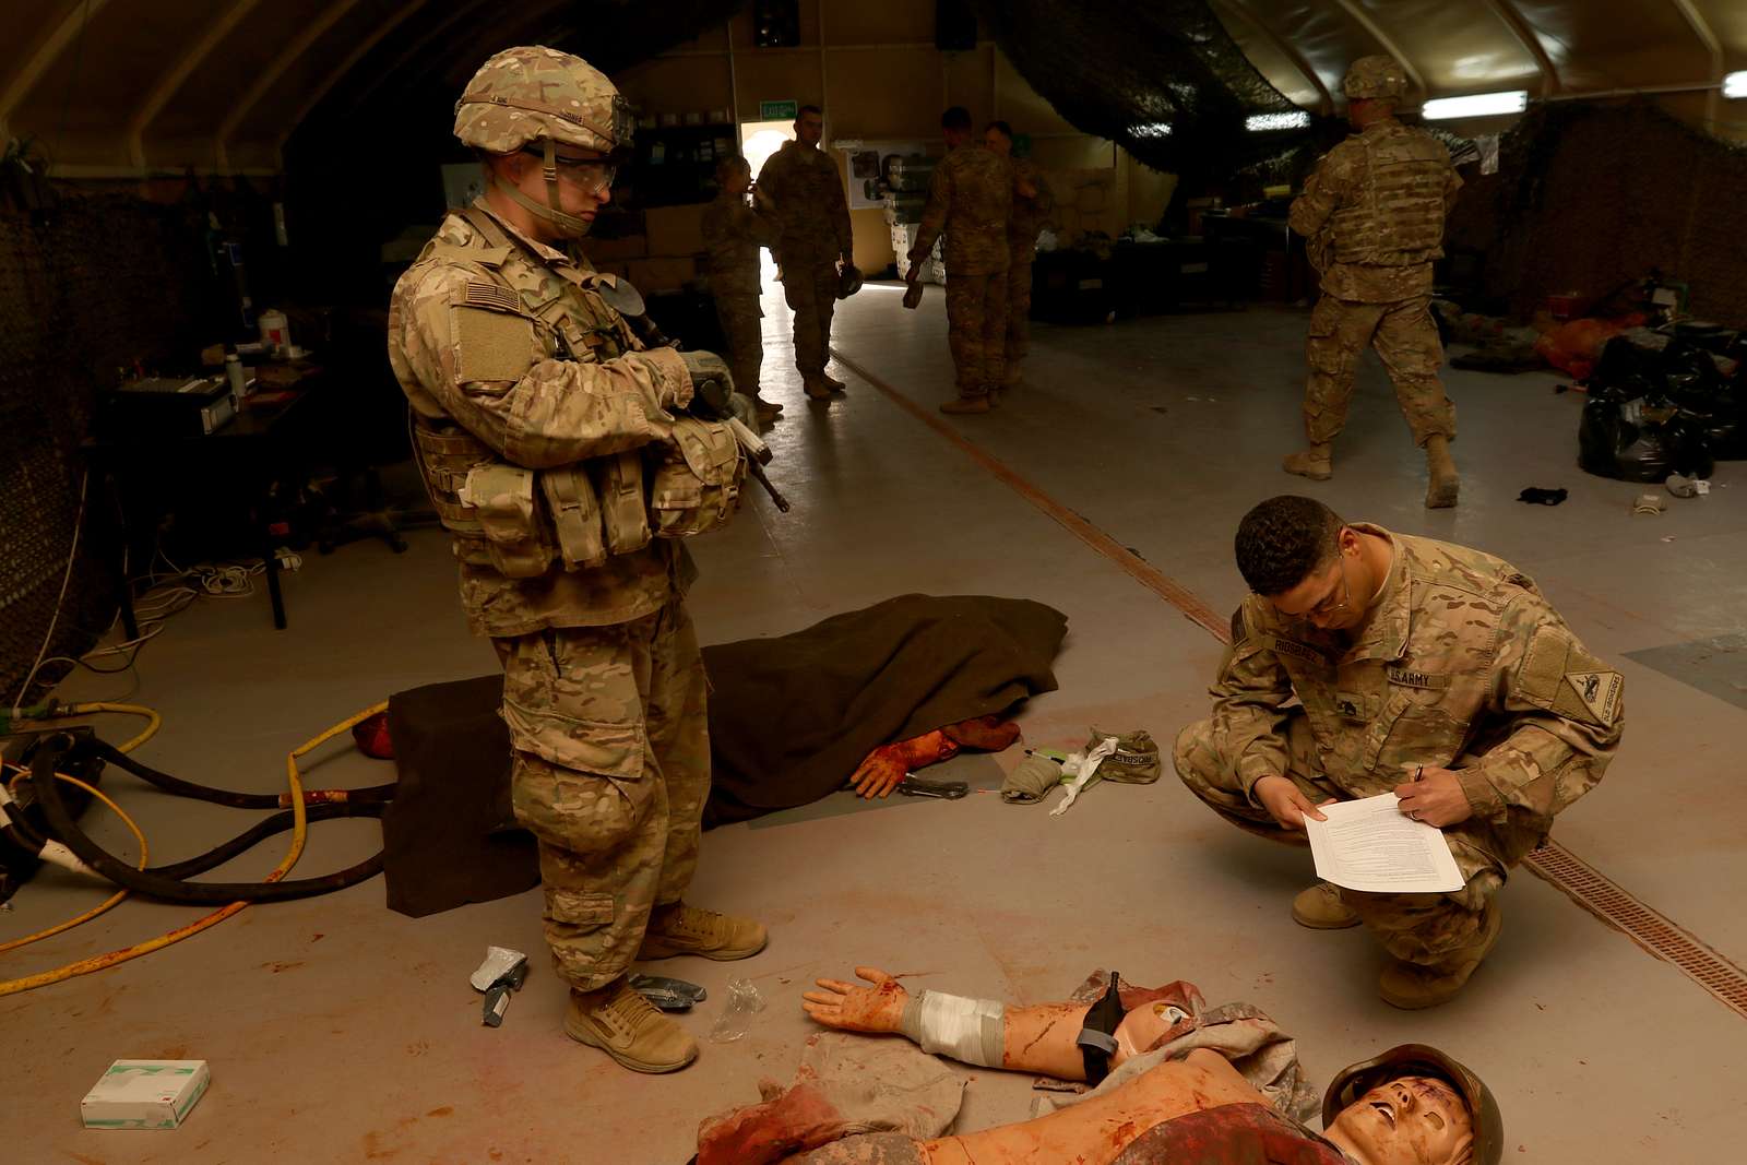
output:
POLYGON ((680 599, 615 627, 494 639, 510 802, 540 844, 545 940, 578 990, 638 955, 697 868, 709 795, 704 662, 680 599))

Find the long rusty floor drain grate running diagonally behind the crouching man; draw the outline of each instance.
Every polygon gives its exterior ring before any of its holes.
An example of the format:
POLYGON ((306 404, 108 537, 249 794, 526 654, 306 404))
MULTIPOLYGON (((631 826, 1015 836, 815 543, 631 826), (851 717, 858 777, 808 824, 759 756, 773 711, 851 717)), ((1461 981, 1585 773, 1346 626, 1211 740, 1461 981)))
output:
MULTIPOLYGON (((1003 463, 977 442, 966 438, 957 431, 957 428, 922 409, 907 395, 879 379, 854 360, 846 358, 835 348, 832 349, 832 356, 891 398, 891 402, 900 409, 956 444, 970 454, 973 461, 1006 482, 1019 496, 1066 526, 1069 533, 1120 566, 1143 587, 1183 611, 1183 615, 1190 620, 1205 627, 1219 643, 1232 643, 1232 632, 1226 620, 1219 618, 1193 590, 1183 587, 1174 578, 1146 562, 1139 554, 1129 550, 1120 541, 1106 534, 1099 526, 1094 526, 1080 514, 1074 514, 1060 501, 1043 493, 1043 489, 1032 484, 1031 479, 1003 463)), ((1726 1008, 1747 1018, 1747 971, 1742 971, 1738 966, 1719 955, 1695 934, 1679 924, 1670 922, 1621 887, 1609 882, 1599 870, 1585 863, 1558 842, 1548 842, 1541 849, 1534 851, 1523 858, 1523 865, 1534 875, 1551 882, 1553 887, 1593 913, 1597 919, 1626 934, 1649 954, 1677 966, 1688 978, 1716 996, 1726 1008)))

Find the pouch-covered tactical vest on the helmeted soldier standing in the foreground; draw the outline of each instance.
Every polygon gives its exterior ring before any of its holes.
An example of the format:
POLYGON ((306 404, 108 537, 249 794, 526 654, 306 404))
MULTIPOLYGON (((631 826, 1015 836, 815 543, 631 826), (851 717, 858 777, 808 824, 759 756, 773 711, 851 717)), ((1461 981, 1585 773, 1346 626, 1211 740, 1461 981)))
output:
MULTIPOLYGON (((432 239, 419 260, 461 262, 536 321, 547 355, 608 362, 643 342, 615 311, 610 279, 578 267, 549 267, 529 257, 477 206, 459 211, 480 243, 458 246, 432 239)), ((643 452, 624 451, 554 470, 510 465, 449 419, 416 417, 414 449, 437 517, 454 534, 456 557, 508 578, 533 578, 601 566, 608 554, 632 554, 650 543, 653 512, 659 536, 713 529, 734 508, 744 456, 725 426, 680 417, 662 449, 653 491, 645 489, 643 452)))

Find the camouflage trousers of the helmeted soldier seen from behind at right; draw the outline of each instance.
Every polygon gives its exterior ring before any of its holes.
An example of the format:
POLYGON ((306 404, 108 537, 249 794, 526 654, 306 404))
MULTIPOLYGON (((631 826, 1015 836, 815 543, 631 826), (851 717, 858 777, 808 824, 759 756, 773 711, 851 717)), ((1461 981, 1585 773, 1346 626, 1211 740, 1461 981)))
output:
POLYGON ((1305 384, 1305 433, 1314 444, 1335 440, 1347 426, 1347 403, 1359 356, 1375 348, 1389 379, 1396 386, 1401 416, 1413 430, 1413 444, 1455 437, 1455 405, 1443 393, 1438 369, 1443 344, 1431 320, 1431 299, 1417 295, 1394 304, 1354 304, 1333 295, 1317 300, 1310 313, 1310 339, 1305 356, 1310 381, 1305 384))

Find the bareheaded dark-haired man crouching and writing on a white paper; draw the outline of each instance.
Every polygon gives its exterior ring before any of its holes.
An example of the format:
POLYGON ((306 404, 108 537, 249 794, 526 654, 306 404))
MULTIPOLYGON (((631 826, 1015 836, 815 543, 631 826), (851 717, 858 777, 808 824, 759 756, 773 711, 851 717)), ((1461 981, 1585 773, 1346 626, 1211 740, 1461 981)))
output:
POLYGON ((1443 830, 1462 889, 1319 884, 1298 894, 1293 919, 1366 924, 1394 955, 1382 997, 1445 1003, 1499 938, 1509 870, 1607 770, 1623 678, 1530 578, 1480 550, 1282 496, 1244 515, 1235 552, 1253 594, 1232 615, 1212 716, 1177 735, 1177 776, 1272 840, 1303 844, 1319 803, 1384 793, 1443 830))

